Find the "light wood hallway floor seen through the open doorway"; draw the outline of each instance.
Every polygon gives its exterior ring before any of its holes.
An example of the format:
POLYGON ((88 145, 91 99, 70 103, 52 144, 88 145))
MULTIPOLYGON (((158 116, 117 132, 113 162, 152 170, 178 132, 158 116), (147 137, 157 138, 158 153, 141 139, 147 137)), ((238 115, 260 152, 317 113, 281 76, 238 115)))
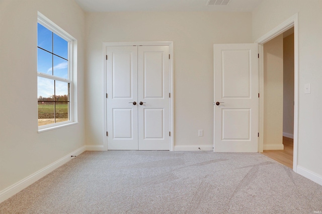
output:
POLYGON ((284 150, 264 150, 262 154, 293 168, 293 139, 283 137, 284 150))

